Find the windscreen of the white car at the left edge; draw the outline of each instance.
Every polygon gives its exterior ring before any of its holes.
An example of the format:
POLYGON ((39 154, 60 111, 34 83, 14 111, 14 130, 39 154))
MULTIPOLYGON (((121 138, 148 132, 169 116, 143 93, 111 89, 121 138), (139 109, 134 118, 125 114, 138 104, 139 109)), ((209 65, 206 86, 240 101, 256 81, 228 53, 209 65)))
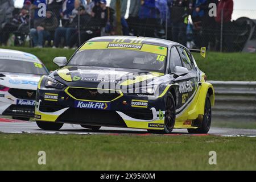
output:
POLYGON ((9 59, 0 59, 0 72, 48 75, 48 71, 43 64, 9 59))

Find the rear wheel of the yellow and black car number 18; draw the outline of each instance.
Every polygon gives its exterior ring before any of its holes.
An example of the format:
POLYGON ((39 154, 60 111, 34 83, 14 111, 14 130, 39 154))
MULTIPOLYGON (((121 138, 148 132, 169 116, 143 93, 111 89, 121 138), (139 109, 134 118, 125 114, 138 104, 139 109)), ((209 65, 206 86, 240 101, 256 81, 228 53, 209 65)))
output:
POLYGON ((212 124, 212 106, 210 105, 210 96, 207 94, 204 106, 204 117, 201 126, 198 129, 188 129, 188 133, 207 134, 212 124))

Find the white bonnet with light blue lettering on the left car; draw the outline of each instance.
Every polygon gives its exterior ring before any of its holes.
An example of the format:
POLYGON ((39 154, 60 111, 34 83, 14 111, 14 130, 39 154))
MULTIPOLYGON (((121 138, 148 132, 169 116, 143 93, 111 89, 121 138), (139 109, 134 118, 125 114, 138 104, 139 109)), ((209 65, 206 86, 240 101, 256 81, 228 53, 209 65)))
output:
POLYGON ((0 85, 16 89, 36 90, 40 77, 40 75, 1 72, 0 85))

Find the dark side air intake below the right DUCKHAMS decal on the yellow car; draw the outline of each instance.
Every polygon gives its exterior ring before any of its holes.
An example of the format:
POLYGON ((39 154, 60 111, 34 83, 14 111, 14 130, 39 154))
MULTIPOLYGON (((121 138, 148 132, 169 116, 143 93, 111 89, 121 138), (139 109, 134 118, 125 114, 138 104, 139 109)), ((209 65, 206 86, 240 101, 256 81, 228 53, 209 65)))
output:
POLYGON ((149 110, 149 109, 125 110, 125 111, 122 111, 122 113, 134 119, 142 119, 142 120, 153 119, 152 110, 149 110))

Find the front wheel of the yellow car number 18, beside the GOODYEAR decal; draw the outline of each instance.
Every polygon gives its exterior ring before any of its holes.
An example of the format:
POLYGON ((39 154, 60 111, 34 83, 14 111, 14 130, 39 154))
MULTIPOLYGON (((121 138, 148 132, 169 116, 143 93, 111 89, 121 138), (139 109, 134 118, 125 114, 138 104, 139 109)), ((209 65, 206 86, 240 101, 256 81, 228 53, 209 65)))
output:
POLYGON ((148 130, 150 133, 155 134, 170 134, 174 129, 175 119, 176 119, 176 107, 174 97, 171 93, 167 94, 166 98, 166 113, 164 114, 164 130, 156 131, 156 130, 148 130))

